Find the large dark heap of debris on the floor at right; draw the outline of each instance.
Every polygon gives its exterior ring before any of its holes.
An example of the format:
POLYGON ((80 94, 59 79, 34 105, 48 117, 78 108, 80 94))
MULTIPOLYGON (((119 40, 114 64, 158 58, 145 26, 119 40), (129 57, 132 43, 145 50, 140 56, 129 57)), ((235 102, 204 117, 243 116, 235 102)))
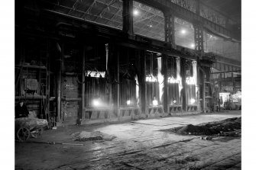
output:
POLYGON ((174 127, 162 131, 178 133, 181 135, 238 136, 241 133, 241 117, 228 118, 217 122, 203 123, 199 125, 189 124, 185 127, 174 127))

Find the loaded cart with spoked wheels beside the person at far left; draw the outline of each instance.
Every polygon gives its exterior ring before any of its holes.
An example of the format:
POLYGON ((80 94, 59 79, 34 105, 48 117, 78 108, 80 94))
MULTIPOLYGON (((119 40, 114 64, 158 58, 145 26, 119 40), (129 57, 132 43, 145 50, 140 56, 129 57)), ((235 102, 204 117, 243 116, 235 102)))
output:
POLYGON ((44 127, 48 126, 47 120, 21 117, 15 119, 15 137, 19 141, 26 141, 31 136, 39 138, 42 136, 44 127))

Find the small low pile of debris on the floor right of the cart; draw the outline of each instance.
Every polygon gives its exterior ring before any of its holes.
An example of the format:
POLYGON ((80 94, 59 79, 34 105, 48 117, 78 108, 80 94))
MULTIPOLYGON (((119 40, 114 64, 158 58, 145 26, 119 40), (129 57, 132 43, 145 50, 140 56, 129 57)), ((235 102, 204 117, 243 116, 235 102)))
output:
POLYGON ((87 140, 113 140, 116 138, 114 135, 109 135, 106 133, 102 133, 100 131, 96 132, 76 132, 71 134, 73 136, 73 140, 75 141, 87 141, 87 140))

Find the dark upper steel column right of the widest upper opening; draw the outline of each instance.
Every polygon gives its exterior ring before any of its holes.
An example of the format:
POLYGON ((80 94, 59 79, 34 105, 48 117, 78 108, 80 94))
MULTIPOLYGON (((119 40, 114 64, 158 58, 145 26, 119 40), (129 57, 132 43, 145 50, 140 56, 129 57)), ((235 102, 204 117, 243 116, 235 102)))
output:
POLYGON ((129 35, 133 34, 133 0, 123 1, 123 31, 129 35))

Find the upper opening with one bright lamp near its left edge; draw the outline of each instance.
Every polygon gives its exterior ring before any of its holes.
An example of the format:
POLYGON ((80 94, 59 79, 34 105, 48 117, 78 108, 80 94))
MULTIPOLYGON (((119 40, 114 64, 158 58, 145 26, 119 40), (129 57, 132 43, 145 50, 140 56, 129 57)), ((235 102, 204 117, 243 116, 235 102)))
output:
POLYGON ((133 2, 134 34, 164 41, 164 14, 139 2, 133 2))

